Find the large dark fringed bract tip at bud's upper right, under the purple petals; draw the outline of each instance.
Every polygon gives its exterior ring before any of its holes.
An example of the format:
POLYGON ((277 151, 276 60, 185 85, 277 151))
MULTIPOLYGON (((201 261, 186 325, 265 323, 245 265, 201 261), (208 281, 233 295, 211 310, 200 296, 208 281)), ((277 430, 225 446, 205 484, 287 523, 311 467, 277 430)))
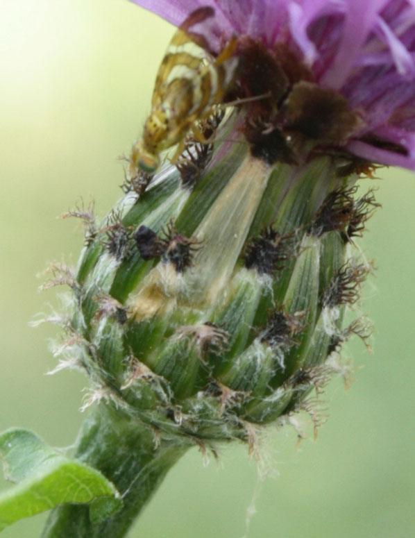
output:
POLYGON ((345 230, 355 214, 355 194, 357 187, 336 189, 321 204, 314 222, 309 228, 311 235, 320 237, 332 230, 345 230))

